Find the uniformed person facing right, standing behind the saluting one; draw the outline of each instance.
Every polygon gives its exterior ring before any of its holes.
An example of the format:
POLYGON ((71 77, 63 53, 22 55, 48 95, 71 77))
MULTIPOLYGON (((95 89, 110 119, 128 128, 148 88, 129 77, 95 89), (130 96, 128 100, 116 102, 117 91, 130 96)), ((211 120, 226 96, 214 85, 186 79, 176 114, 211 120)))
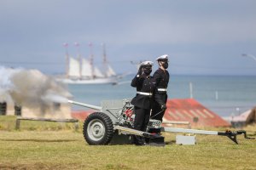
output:
POLYGON ((155 120, 163 121, 163 116, 166 111, 167 102, 167 87, 169 82, 168 68, 168 55, 164 54, 157 59, 159 69, 154 72, 154 81, 156 82, 156 88, 154 91, 154 104, 151 112, 151 118, 155 120))

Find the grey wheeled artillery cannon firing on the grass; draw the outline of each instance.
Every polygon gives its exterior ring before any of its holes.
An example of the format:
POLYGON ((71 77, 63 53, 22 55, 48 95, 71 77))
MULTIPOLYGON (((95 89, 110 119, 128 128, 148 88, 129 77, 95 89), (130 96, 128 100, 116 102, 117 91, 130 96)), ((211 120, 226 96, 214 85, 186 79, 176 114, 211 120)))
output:
MULTIPOLYGON (((148 138, 149 144, 164 145, 164 137, 161 136, 160 133, 150 133, 151 129, 167 133, 194 133, 227 136, 236 144, 238 144, 236 140, 237 134, 244 134, 245 139, 253 139, 247 137, 247 133, 244 130, 217 132, 177 127, 161 127, 161 122, 154 119, 149 120, 147 132, 138 131, 133 129, 135 115, 130 99, 104 100, 102 101, 101 106, 89 105, 73 100, 68 100, 68 102, 73 105, 80 105, 96 110, 96 112, 91 113, 90 116, 84 120, 83 134, 84 139, 88 144, 109 144, 113 142, 114 139, 120 139, 121 136, 131 137, 131 135, 139 135, 148 138)), ((125 138, 125 140, 126 143, 127 141, 128 143, 131 143, 131 138, 125 138)))

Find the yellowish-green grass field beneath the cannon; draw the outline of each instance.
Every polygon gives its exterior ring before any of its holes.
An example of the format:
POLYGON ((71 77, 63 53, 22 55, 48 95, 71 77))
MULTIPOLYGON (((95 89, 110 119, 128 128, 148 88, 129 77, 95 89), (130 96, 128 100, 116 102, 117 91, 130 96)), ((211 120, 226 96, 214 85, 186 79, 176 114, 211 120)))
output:
MULTIPOLYGON (((0 169, 256 169, 256 140, 240 144, 221 136, 197 135, 195 145, 175 144, 165 133, 165 147, 92 146, 73 123, 21 122, 0 116, 0 169)), ((220 129, 218 129, 220 130, 220 129)), ((255 137, 256 126, 246 127, 255 137)))

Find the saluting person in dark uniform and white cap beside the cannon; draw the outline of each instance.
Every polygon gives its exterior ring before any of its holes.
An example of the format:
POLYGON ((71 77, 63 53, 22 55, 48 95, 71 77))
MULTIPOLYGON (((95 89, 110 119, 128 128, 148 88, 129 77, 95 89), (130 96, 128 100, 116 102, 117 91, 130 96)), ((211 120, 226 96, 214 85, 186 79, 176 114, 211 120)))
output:
MULTIPOLYGON (((137 76, 131 81, 131 86, 137 88, 136 97, 131 99, 131 105, 134 105, 135 112, 134 129, 143 132, 147 130, 155 88, 154 79, 150 76, 152 65, 151 61, 141 63, 137 76)), ((135 135, 134 144, 144 145, 146 144, 145 139, 135 135)))

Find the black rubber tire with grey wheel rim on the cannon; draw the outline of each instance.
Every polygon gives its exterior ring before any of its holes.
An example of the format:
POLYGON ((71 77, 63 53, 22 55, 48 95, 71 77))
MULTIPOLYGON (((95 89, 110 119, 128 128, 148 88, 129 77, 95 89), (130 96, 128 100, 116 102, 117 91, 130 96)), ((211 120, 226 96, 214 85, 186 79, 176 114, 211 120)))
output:
POLYGON ((113 122, 111 121, 110 117, 105 113, 102 113, 102 112, 91 113, 90 116, 88 116, 84 121, 83 134, 84 134, 84 139, 88 144, 91 144, 91 145, 108 144, 113 138, 113 122), (105 132, 102 132, 103 133, 102 136, 98 138, 96 136, 97 135, 96 132, 94 133, 91 132, 90 130, 91 127, 100 127, 101 130, 102 131, 105 130, 105 132), (89 130, 90 132, 88 132, 89 130), (98 139, 95 139, 95 136, 98 139))

